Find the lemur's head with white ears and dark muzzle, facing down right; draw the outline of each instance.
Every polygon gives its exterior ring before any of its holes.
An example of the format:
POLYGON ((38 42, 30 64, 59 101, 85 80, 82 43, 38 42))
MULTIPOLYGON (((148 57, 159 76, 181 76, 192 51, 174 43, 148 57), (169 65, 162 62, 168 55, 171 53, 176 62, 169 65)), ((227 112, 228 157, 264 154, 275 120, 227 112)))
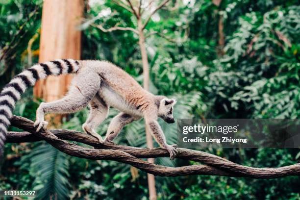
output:
POLYGON ((173 117, 173 106, 175 105, 175 99, 163 98, 159 101, 158 104, 158 117, 163 119, 165 122, 171 124, 175 123, 173 117))

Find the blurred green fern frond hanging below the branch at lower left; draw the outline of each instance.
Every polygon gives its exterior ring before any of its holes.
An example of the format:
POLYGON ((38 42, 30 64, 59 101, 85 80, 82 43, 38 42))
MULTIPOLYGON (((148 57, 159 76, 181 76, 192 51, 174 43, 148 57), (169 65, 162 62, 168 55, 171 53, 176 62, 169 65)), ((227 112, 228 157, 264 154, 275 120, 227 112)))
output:
POLYGON ((29 174, 34 177, 32 190, 37 191, 38 199, 68 199, 68 155, 41 142, 25 158, 29 159, 29 174))

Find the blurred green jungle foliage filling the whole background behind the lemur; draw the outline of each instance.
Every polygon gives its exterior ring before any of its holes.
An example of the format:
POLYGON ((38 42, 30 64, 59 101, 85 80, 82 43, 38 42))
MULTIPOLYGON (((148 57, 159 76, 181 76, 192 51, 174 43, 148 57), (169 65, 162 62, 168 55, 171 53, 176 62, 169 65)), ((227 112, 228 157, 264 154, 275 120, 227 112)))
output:
MULTIPOLYGON (((135 1, 132 1, 135 2, 135 1)), ((146 1, 145 2, 151 2, 146 1)), ((0 0, 0 85, 38 61, 41 0, 0 0)), ((299 118, 300 5, 296 0, 170 1, 145 34, 150 91, 175 97, 175 118, 299 118), (160 37, 160 33, 166 38, 160 37), (188 33, 188 34, 187 34, 188 33)), ((131 12, 108 0, 85 1, 82 59, 109 60, 143 82, 138 36, 103 32, 137 26, 131 12)), ((15 114, 35 118, 32 90, 15 114)), ((80 130, 88 110, 65 117, 80 130)), ((109 118, 117 111, 110 110, 109 118)), ((110 119, 98 129, 105 133, 110 119)), ((160 122, 169 143, 176 125, 160 122)), ((144 122, 127 125, 117 144, 146 147, 144 122)), ((156 145, 154 143, 154 145, 156 145)), ((231 161, 279 167, 300 161, 298 149, 205 149, 231 161)), ((44 142, 7 144, 0 188, 36 189, 42 199, 147 199, 147 174, 114 161, 69 157, 44 142), (58 164, 59 163, 59 164, 58 164), (16 173, 18 172, 18 173, 16 173)), ((155 159, 167 166, 186 161, 155 159)), ((300 199, 300 178, 156 177, 158 199, 300 199)))

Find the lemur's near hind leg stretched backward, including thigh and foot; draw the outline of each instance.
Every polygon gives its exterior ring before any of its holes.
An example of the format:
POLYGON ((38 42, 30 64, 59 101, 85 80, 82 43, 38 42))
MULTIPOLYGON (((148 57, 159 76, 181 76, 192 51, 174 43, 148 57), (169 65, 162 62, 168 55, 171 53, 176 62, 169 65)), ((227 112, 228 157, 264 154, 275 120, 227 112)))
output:
POLYGON ((100 88, 100 76, 94 72, 82 72, 73 78, 68 94, 60 99, 49 103, 42 102, 36 110, 37 131, 46 128, 46 113, 73 113, 83 109, 92 100, 100 88))

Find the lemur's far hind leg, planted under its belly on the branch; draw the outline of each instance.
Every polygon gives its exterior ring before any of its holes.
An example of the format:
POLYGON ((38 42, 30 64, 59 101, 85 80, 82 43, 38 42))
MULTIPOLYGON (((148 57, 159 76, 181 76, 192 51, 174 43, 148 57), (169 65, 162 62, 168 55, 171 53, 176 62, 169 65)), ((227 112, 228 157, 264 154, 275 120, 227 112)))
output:
POLYGON ((82 125, 82 129, 96 137, 100 143, 103 143, 102 137, 94 130, 98 125, 100 125, 108 114, 109 105, 100 98, 98 94, 90 101, 90 114, 86 122, 82 125))

